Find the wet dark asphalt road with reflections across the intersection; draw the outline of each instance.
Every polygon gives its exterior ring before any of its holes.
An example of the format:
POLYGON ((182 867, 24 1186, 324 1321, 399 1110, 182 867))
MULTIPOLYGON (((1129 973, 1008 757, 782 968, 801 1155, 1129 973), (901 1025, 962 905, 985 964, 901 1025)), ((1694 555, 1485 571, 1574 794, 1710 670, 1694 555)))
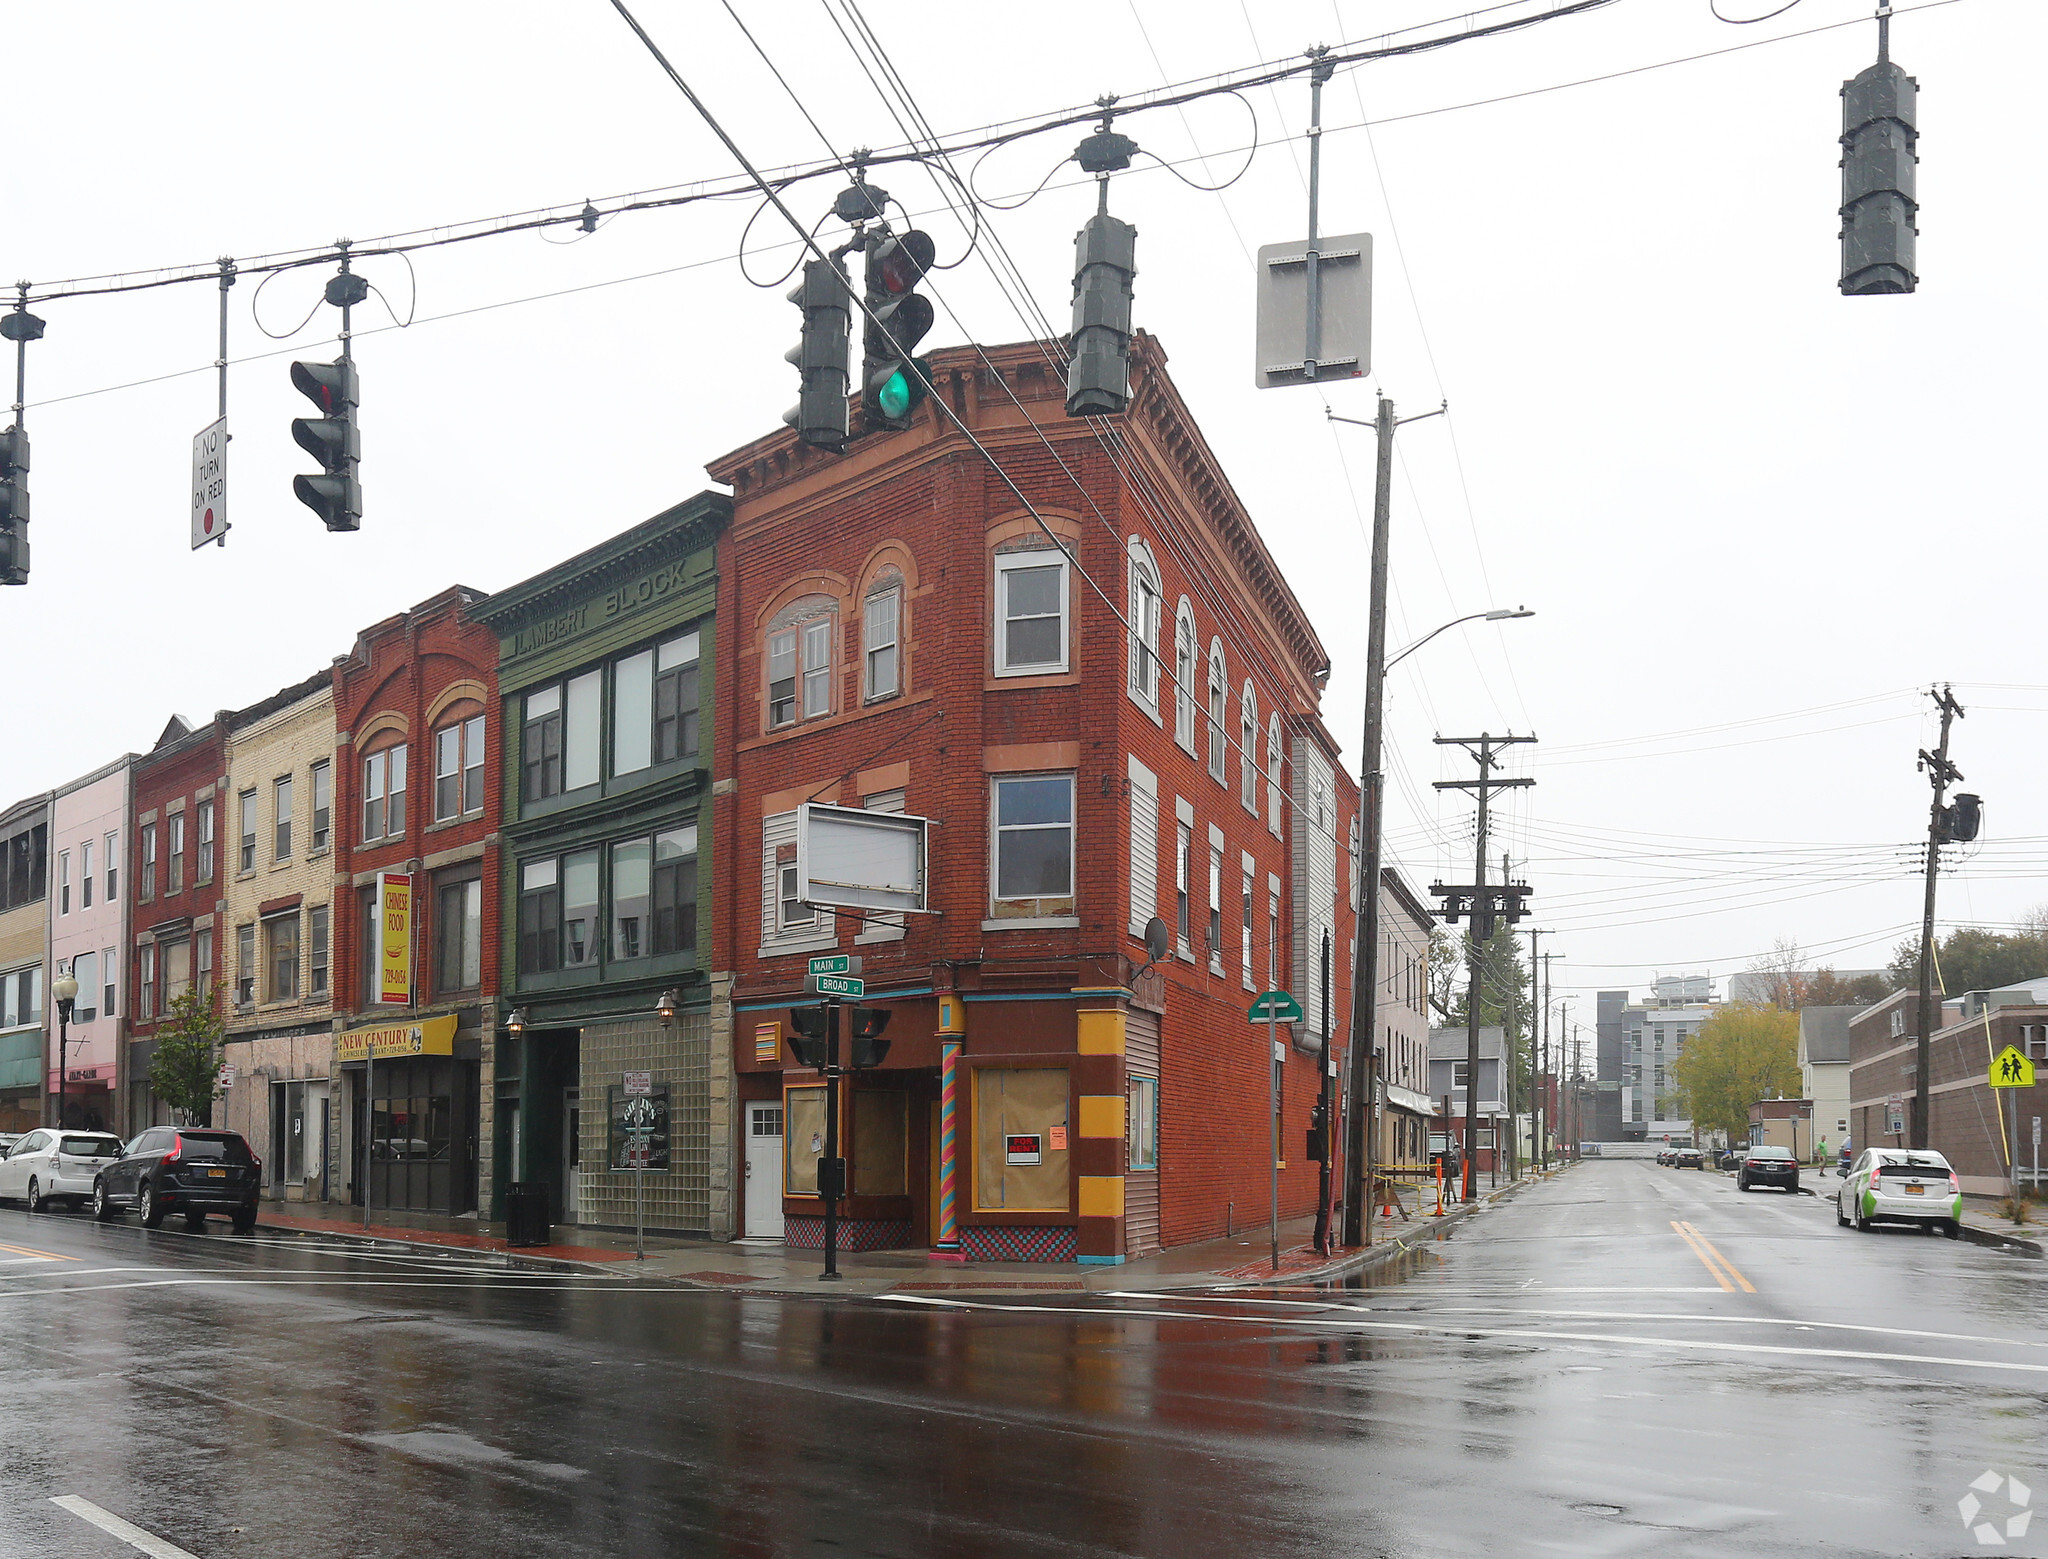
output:
POLYGON ((1960 1555, 1987 1469, 2048 1504, 2048 1262, 1597 1162, 1434 1252, 811 1303, 0 1209, 0 1555, 139 1551, 55 1498, 197 1559, 1960 1555))

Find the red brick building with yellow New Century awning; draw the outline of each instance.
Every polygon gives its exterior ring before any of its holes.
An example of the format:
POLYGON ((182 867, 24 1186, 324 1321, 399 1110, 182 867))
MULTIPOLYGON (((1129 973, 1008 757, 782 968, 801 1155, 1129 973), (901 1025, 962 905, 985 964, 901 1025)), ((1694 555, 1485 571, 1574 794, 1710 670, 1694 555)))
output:
POLYGON ((442 590, 362 629, 334 666, 336 1114, 348 1194, 362 1200, 369 1141, 379 1209, 471 1213, 489 1196, 504 754, 498 635, 465 617, 479 600, 442 590), (397 1004, 377 1000, 379 873, 412 879, 397 1004))

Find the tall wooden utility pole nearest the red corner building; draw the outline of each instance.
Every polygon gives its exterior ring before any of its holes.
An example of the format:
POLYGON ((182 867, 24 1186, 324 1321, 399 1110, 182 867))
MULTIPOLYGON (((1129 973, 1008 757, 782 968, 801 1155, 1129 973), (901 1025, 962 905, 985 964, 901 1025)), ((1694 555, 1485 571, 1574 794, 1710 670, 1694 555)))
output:
POLYGON ((1360 865, 1358 865, 1358 938, 1352 951, 1352 1051, 1350 1082, 1343 1090, 1343 1244, 1372 1244, 1372 1133, 1368 1121, 1376 1092, 1372 1043, 1380 1030, 1380 813, 1384 791, 1380 778, 1380 742, 1386 705, 1386 547, 1393 531, 1395 492, 1395 428, 1442 416, 1421 412, 1395 416, 1395 404, 1380 395, 1372 422, 1335 416, 1331 422, 1370 426, 1378 461, 1372 473, 1372 576, 1366 598, 1366 740, 1358 760, 1360 801, 1360 865))

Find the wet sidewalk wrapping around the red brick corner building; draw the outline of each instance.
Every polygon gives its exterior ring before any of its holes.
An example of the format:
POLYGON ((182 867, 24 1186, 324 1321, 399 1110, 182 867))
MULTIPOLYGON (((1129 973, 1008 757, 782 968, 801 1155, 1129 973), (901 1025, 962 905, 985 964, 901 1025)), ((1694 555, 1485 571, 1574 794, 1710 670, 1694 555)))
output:
MULTIPOLYGON (((1534 1176, 1520 1184, 1532 1184, 1534 1176)), ((535 1270, 582 1272, 590 1276, 684 1282, 700 1289, 729 1289, 764 1295, 969 1295, 969 1293, 1108 1293, 1118 1289, 1233 1289, 1272 1282, 1335 1282, 1352 1274, 1399 1260, 1407 1252, 1446 1237, 1468 1217, 1483 1213, 1518 1184, 1481 1192, 1473 1207, 1458 1207, 1444 1217, 1409 1213, 1374 1217, 1370 1250, 1319 1256, 1309 1239, 1315 1219, 1288 1219, 1280 1225, 1280 1270, 1272 1266, 1270 1237, 1264 1227, 1247 1229, 1229 1239, 1141 1256, 1116 1266, 1075 1266, 1071 1262, 942 1262, 924 1250, 840 1252, 840 1280, 821 1278, 823 1252, 791 1250, 780 1241, 655 1239, 645 1241, 645 1260, 633 1256, 633 1233, 614 1229, 573 1229, 573 1244, 512 1248, 496 1225, 477 1219, 438 1219, 428 1215, 377 1215, 365 1227, 360 1215, 315 1217, 309 1213, 266 1209, 258 1227, 270 1233, 301 1233, 319 1239, 340 1239, 365 1246, 406 1248, 444 1256, 471 1256, 506 1266, 535 1270)), ((1434 1205, 1434 1203, 1432 1203, 1434 1205)), ((557 1229, 567 1233, 567 1229, 557 1229)))

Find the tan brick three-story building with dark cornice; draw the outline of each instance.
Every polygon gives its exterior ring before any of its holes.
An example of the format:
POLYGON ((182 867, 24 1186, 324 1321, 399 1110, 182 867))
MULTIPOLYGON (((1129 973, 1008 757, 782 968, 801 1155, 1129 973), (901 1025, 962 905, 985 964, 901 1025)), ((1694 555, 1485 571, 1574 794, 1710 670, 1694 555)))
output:
POLYGON ((332 1114, 332 672, 227 717, 221 969, 233 1084, 215 1125, 250 1139, 264 1194, 340 1196, 332 1114))

